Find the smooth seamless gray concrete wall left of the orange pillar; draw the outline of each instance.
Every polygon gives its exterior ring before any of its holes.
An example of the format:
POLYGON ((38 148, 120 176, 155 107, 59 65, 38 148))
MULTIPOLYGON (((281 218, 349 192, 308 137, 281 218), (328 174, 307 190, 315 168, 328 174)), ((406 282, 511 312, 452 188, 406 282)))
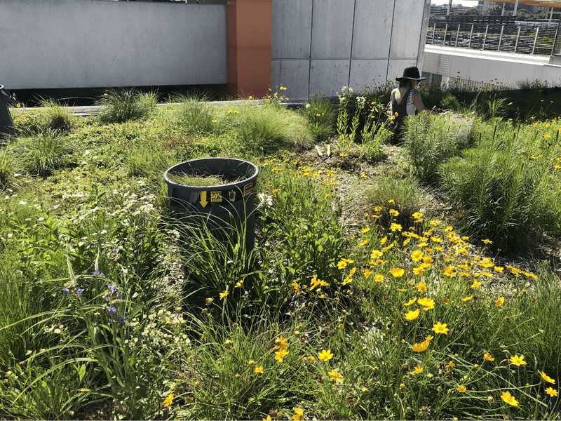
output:
POLYGON ((227 83, 225 5, 1 0, 7 89, 227 83))

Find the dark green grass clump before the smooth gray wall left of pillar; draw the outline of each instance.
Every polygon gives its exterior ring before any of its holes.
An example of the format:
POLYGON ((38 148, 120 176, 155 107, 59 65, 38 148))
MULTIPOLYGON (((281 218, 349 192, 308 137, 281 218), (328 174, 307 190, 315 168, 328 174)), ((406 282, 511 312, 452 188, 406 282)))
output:
POLYGON ((156 108, 154 93, 138 93, 134 89, 111 89, 97 101, 102 106, 100 121, 123 123, 148 116, 156 108))

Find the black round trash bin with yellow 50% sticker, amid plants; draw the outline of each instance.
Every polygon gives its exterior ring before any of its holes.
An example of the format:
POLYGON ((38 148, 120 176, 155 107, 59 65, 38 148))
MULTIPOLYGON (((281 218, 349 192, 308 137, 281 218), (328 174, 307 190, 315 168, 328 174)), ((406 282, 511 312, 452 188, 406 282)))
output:
POLYGON ((255 248, 257 175, 257 166, 234 158, 194 159, 168 168, 163 178, 168 185, 173 218, 189 225, 205 224, 222 240, 231 238, 231 230, 236 229, 234 234, 245 234, 245 246, 249 253, 255 248), (224 184, 182 185, 170 180, 173 175, 219 176, 224 184))

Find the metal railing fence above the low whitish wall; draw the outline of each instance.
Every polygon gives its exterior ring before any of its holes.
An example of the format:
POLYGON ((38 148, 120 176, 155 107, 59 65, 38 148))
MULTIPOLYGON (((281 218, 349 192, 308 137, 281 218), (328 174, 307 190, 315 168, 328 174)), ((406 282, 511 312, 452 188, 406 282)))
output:
MULTIPOLYGON (((426 44, 505 53, 559 54, 555 48, 558 27, 497 25, 464 22, 428 22, 426 44)), ((558 43, 557 43, 558 44, 558 43)))

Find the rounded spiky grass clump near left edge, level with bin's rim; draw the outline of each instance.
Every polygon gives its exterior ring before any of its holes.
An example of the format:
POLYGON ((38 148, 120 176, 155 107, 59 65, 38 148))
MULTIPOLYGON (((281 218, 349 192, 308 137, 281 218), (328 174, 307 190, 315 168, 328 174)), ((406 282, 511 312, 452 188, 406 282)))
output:
POLYGON ((53 129, 27 133, 13 147, 20 165, 29 173, 46 177, 67 165, 72 147, 68 138, 53 129))

